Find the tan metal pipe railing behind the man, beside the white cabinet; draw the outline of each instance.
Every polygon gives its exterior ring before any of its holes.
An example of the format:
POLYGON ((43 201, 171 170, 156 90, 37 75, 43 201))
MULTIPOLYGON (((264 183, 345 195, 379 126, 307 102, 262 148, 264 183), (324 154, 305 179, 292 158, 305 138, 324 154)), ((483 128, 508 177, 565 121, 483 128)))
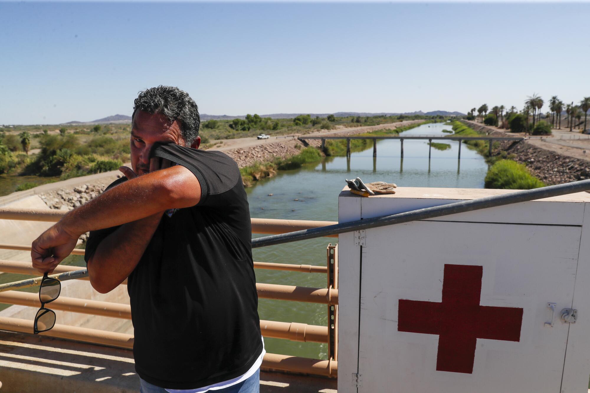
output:
MULTIPOLYGON (((57 210, 0 208, 0 219, 5 220, 57 222, 64 214, 65 211, 57 210)), ((335 222, 252 219, 253 232, 261 234, 281 234, 291 231, 323 227, 332 224, 335 224, 335 222)), ((0 248, 22 251, 31 250, 30 245, 21 244, 0 244, 0 248)), ((301 271, 305 273, 327 273, 329 276, 328 282, 333 283, 334 268, 333 266, 330 268, 330 261, 332 261, 332 263, 334 261, 334 249, 335 246, 329 246, 328 266, 254 262, 254 267, 271 270, 301 271), (332 259, 330 259, 330 253, 332 253, 332 259), (330 276, 332 276, 332 279, 330 279, 330 276)), ((74 249, 72 254, 84 255, 84 252, 85 250, 74 249)), ((80 270, 80 268, 75 266, 60 265, 55 268, 53 273, 66 273, 68 271, 76 270, 80 270)), ((0 260, 0 272, 28 274, 32 276, 38 276, 39 274, 30 263, 9 260, 0 260)), ((80 279, 89 280, 89 277, 81 277, 80 279)), ((127 284, 127 280, 123 281, 123 284, 127 284)), ((334 310, 337 310, 338 291, 335 288, 335 285, 329 285, 327 288, 309 288, 256 283, 258 297, 266 299, 291 300, 297 302, 322 303, 327 304, 329 310, 328 326, 261 320, 260 330, 264 337, 288 339, 300 342, 328 343, 330 352, 330 359, 327 361, 267 353, 263 360, 262 366, 264 368, 332 377, 337 375, 337 361, 335 356, 336 329, 333 320, 330 320, 330 317, 333 319, 335 316, 334 310), (330 310, 332 310, 331 315, 330 310)), ((38 294, 19 291, 0 292, 0 303, 19 304, 30 307, 40 306, 38 294)), ((51 304, 53 309, 63 310, 65 312, 118 317, 123 319, 130 319, 131 317, 131 309, 128 304, 99 302, 96 300, 84 300, 71 297, 58 297, 58 299, 51 304)), ((0 329, 9 330, 12 332, 31 333, 32 321, 0 317, 0 329)), ((114 346, 117 348, 133 348, 132 335, 107 332, 104 330, 88 329, 84 327, 55 325, 53 329, 49 330, 48 332, 41 333, 41 335, 95 343, 99 345, 114 346)))

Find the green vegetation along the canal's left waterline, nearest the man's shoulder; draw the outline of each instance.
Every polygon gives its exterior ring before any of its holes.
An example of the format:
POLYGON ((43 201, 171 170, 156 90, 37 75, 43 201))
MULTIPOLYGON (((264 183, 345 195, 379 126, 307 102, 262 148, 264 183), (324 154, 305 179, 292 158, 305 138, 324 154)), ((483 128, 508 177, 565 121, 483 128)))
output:
POLYGON ((277 170, 298 169, 305 164, 316 163, 321 160, 322 153, 318 149, 308 146, 301 150, 301 153, 285 159, 277 158, 273 162, 255 162, 253 165, 240 168, 242 183, 245 187, 249 187, 254 181, 276 175, 277 170))

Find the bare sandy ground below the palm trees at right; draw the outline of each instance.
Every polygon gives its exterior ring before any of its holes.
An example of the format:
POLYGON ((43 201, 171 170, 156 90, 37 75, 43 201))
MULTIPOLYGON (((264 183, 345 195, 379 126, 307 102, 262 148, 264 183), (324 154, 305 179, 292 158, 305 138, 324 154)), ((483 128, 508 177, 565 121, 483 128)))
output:
MULTIPOLYGON (((481 123, 477 123, 477 125, 481 125, 481 123)), ((514 134, 498 127, 486 127, 507 133, 509 135, 525 136, 523 133, 514 134)), ((550 136, 528 136, 526 143, 530 143, 537 148, 550 150, 564 156, 590 161, 590 135, 581 134, 578 132, 578 130, 569 132, 569 129, 563 128, 560 130, 553 129, 552 133, 553 134, 550 136)))

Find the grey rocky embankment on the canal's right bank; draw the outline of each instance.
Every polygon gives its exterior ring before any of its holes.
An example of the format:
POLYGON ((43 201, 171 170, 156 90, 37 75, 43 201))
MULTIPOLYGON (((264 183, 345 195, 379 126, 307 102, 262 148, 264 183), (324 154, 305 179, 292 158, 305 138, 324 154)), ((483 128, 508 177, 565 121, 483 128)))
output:
MULTIPOLYGON (((490 127, 476 125, 472 122, 464 123, 478 132, 489 133, 490 136, 507 135, 490 127)), ((530 145, 526 140, 520 142, 501 141, 500 149, 494 149, 493 154, 497 155, 502 150, 516 155, 513 158, 514 161, 525 164, 532 175, 547 185, 590 178, 590 162, 530 145)))

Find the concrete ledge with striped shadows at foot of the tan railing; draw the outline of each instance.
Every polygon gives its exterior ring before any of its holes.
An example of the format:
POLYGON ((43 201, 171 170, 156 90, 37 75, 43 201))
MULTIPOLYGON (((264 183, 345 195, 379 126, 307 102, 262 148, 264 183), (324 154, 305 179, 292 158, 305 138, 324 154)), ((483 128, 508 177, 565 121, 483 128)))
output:
MULTIPOLYGON (((0 330, 0 382, 8 392, 139 392, 133 352, 0 330)), ((336 379, 260 373, 261 393, 336 393, 336 379)))

